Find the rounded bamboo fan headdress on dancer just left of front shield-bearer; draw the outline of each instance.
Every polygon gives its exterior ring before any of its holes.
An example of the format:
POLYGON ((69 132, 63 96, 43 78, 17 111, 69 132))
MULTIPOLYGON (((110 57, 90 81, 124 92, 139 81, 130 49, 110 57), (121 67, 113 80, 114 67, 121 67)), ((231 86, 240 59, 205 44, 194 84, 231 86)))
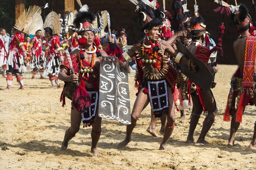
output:
POLYGON ((56 12, 50 12, 44 21, 44 28, 50 27, 52 29, 52 35, 61 33, 60 19, 56 12))

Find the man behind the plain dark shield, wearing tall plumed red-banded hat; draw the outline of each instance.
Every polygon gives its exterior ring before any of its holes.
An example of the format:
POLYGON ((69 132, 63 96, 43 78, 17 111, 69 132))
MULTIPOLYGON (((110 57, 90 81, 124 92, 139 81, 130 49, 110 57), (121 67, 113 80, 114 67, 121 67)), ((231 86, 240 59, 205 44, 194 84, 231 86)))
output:
MULTIPOLYGON (((206 47, 202 46, 202 42, 204 41, 204 33, 205 33, 205 22, 203 17, 198 14, 198 6, 195 4, 195 17, 192 17, 190 20, 190 29, 192 35, 192 43, 187 47, 192 54, 195 55, 198 59, 203 61, 209 68, 210 72, 214 74, 218 71, 218 67, 212 67, 209 56, 211 51, 206 47)), ((195 128, 198 124, 201 113, 207 112, 207 116, 204 119, 203 127, 201 133, 199 135, 197 143, 201 144, 209 144, 205 140, 205 135, 212 127, 213 122, 215 121, 215 115, 218 112, 215 99, 213 97, 212 91, 209 92, 201 89, 199 86, 194 84, 192 81, 187 81, 187 88, 189 92, 189 96, 191 96, 193 101, 193 108, 189 126, 189 134, 187 136, 187 142, 195 142, 193 137, 195 128)), ((212 82, 212 88, 215 87, 215 82, 212 82)))

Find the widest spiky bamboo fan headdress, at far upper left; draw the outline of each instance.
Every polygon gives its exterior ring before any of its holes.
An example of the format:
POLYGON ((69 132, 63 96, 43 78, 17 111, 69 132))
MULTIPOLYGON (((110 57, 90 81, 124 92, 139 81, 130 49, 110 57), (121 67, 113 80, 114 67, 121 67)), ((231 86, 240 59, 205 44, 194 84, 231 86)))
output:
POLYGON ((24 12, 16 20, 14 28, 20 32, 31 34, 37 26, 40 18, 41 8, 39 6, 29 6, 29 9, 24 10, 24 12))

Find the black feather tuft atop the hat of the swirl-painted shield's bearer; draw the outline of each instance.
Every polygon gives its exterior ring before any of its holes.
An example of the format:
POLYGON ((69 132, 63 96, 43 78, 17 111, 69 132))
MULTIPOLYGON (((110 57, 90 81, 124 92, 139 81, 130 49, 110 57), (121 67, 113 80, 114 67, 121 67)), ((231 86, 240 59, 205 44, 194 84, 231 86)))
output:
POLYGON ((76 26, 76 28, 80 27, 80 23, 84 23, 86 21, 93 23, 93 20, 95 20, 96 15, 93 14, 93 12, 79 12, 76 14, 75 19, 73 20, 73 24, 76 26))

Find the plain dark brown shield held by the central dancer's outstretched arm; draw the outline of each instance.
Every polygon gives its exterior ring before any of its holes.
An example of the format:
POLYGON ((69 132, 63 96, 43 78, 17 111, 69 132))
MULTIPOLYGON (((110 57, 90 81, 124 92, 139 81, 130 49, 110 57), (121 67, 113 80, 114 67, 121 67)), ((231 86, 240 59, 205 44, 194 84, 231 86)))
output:
POLYGON ((195 55, 193 55, 189 49, 186 48, 186 46, 180 43, 180 41, 176 40, 176 42, 179 52, 186 55, 187 58, 191 59, 198 65, 198 71, 194 73, 189 69, 187 65, 181 63, 181 72, 186 75, 193 83, 209 92, 212 86, 213 75, 211 74, 207 65, 203 61, 196 58, 195 55))

